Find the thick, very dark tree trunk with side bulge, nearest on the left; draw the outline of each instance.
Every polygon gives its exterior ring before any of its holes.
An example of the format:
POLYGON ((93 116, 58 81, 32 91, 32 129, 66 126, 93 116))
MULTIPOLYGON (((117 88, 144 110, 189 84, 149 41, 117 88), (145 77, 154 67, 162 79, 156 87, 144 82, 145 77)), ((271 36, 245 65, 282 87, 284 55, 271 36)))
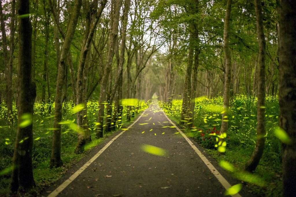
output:
MULTIPOLYGON (((19 16, 29 14, 30 3, 28 0, 19 1, 19 16)), ((36 97, 36 85, 32 82, 32 26, 29 17, 20 17, 18 25, 19 50, 18 50, 18 127, 13 154, 13 171, 11 192, 26 192, 35 186, 32 165, 33 146, 33 106, 36 97), (30 125, 21 126, 25 120, 30 125)))

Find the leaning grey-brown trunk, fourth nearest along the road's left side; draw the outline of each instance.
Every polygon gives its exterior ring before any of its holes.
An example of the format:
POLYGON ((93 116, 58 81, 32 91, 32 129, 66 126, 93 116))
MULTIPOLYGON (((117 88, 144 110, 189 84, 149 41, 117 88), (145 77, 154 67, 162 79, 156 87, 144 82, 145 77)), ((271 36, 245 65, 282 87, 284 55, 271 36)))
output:
POLYGON ((109 41, 109 50, 108 50, 108 59, 107 64, 104 68, 104 75, 102 77, 101 82, 101 90, 100 90, 100 97, 99 97, 99 113, 98 113, 98 127, 96 128, 96 138, 103 137, 103 123, 104 123, 104 107, 106 102, 106 94, 107 94, 107 83, 109 74, 111 72, 112 67, 112 59, 114 56, 114 47, 118 37, 118 24, 119 24, 119 14, 120 14, 120 5, 121 0, 115 2, 112 0, 112 4, 114 7, 113 14, 112 14, 112 30, 110 33, 110 41, 109 41))

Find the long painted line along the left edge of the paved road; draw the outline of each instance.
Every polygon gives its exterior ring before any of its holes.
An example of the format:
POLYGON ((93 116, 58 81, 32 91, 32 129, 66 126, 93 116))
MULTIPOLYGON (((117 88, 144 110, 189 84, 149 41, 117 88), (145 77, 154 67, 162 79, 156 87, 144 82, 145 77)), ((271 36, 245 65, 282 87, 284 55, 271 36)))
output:
MULTIPOLYGON (((146 110, 144 111, 146 112, 146 110)), ((136 121, 133 122, 127 129, 131 128, 144 114, 144 112, 137 118, 136 121)), ((88 162, 86 162, 81 168, 79 168, 73 175, 71 175, 67 180, 65 180, 57 189, 55 189, 52 193, 50 193, 47 197, 55 197, 57 196, 62 190, 64 190, 75 178, 78 177, 89 165, 94 162, 103 152, 106 150, 120 135, 122 135, 127 130, 123 130, 118 135, 116 135, 110 142, 108 142, 99 152, 97 152, 88 162)))

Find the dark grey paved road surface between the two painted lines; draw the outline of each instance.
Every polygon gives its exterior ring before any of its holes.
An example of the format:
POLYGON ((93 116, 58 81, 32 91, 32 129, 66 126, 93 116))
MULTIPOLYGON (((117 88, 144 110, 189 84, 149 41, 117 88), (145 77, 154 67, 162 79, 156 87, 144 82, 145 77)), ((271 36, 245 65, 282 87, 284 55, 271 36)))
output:
POLYGON ((225 188, 176 128, 163 126, 172 124, 150 107, 58 196, 224 196, 225 188), (144 152, 143 144, 167 154, 144 152))

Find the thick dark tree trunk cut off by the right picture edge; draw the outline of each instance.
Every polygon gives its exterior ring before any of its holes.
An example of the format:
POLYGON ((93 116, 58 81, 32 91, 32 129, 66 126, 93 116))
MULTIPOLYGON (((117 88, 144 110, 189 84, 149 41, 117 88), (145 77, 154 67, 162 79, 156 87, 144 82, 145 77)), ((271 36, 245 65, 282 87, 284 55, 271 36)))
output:
POLYGON ((296 196, 296 1, 281 0, 279 25, 280 127, 291 139, 282 144, 283 196, 296 196))

